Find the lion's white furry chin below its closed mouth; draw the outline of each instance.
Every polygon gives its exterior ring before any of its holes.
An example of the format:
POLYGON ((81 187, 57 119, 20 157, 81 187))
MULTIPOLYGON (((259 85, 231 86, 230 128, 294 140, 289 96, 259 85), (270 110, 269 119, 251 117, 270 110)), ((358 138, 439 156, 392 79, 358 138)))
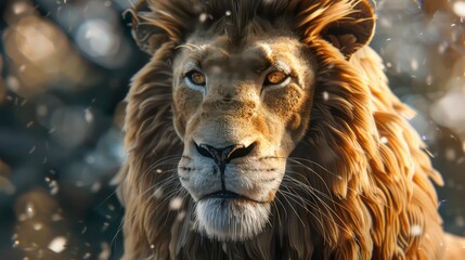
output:
POLYGON ((208 198, 196 205, 198 231, 209 238, 240 242, 261 233, 270 214, 269 203, 208 198))

